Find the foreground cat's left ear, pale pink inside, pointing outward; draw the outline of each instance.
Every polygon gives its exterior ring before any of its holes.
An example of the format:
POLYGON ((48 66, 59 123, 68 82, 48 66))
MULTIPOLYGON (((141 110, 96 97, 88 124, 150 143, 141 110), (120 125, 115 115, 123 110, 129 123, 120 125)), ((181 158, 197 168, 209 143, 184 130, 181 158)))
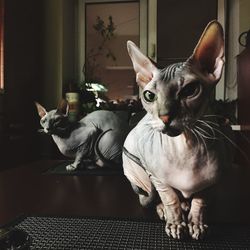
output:
POLYGON ((133 42, 128 41, 127 48, 136 73, 136 82, 144 88, 152 80, 157 68, 133 42))

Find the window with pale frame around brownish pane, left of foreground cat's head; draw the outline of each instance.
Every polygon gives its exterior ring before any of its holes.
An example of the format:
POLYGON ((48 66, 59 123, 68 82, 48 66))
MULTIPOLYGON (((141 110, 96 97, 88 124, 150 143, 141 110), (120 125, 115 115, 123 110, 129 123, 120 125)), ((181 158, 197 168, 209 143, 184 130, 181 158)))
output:
POLYGON ((96 76, 99 76, 101 79, 97 79, 97 82, 103 83, 108 89, 105 96, 110 100, 136 98, 138 87, 126 51, 126 41, 133 40, 143 53, 148 53, 147 0, 80 0, 79 3, 77 78, 79 81, 83 79, 96 81, 96 76), (109 16, 112 16, 112 22, 116 27, 115 38, 108 41, 106 48, 102 50, 105 56, 97 63, 101 67, 94 67, 95 77, 93 77, 91 75, 93 67, 87 68, 91 50, 94 52, 94 49, 98 48, 98 36, 94 37, 98 32, 93 26, 102 21, 105 25, 109 25, 109 16), (109 49, 111 53, 108 52, 109 49), (113 55, 116 60, 112 59, 113 55))

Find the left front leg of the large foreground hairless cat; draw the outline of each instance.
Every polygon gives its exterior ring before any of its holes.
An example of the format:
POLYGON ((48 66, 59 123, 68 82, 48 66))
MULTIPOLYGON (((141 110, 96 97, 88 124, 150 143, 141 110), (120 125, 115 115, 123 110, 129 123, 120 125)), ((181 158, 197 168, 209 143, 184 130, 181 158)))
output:
POLYGON ((164 191, 158 191, 158 193, 163 203, 163 213, 166 220, 165 230, 167 235, 175 239, 184 238, 187 233, 187 225, 178 195, 170 186, 164 191))

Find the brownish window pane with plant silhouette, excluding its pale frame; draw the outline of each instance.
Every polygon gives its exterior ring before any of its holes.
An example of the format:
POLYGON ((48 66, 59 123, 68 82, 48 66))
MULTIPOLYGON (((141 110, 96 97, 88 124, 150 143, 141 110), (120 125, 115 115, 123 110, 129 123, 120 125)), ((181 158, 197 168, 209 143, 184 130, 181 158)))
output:
POLYGON ((137 97, 138 87, 127 40, 140 42, 139 2, 87 3, 85 10, 86 83, 102 85, 104 101, 121 101, 137 97))

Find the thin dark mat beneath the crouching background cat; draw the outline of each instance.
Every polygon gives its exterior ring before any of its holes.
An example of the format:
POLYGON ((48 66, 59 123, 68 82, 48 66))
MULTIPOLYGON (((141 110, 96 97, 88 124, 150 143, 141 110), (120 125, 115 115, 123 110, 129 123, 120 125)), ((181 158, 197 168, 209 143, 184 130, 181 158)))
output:
POLYGON ((80 168, 74 171, 67 171, 66 166, 72 161, 63 161, 56 163, 55 166, 47 169, 44 174, 58 174, 58 175, 123 175, 122 166, 120 168, 80 168))

